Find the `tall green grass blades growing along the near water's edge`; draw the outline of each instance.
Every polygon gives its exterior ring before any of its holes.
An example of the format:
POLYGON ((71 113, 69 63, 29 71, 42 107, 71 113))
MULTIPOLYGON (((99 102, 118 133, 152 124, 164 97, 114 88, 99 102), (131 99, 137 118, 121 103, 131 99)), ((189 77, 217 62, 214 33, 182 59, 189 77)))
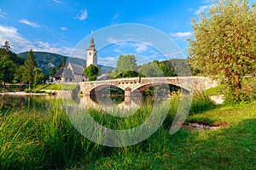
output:
MULTIPOLYGON (((197 99, 197 98, 196 98, 197 99)), ((1 169, 57 169, 86 167, 101 156, 131 156, 142 152, 166 152, 168 145, 166 127, 172 125, 180 102, 179 94, 172 95, 171 102, 158 105, 156 115, 151 116, 152 105, 145 105, 127 117, 111 116, 103 111, 90 110, 88 114, 102 126, 111 129, 131 129, 150 118, 146 126, 154 129, 154 122, 162 119, 167 111, 164 126, 138 144, 112 148, 91 142, 81 135, 70 121, 61 104, 51 105, 45 111, 16 111, 0 122, 0 167, 1 169)), ((212 108, 207 98, 194 101, 192 111, 212 108), (204 107, 203 105, 207 105, 204 107)), ((119 110, 116 110, 119 112, 119 110)), ((83 117, 81 117, 83 118, 83 117)), ((143 129, 137 134, 144 135, 143 129)), ((125 144, 129 138, 113 139, 125 144)), ((126 157, 126 158, 127 158, 126 157)))

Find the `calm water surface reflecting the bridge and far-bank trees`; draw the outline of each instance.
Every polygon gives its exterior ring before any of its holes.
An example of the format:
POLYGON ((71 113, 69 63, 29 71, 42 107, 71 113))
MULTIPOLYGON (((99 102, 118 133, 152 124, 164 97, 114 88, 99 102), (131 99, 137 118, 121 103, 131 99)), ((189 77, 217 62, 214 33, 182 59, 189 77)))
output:
MULTIPOLYGON (((80 109, 95 109, 98 111, 106 111, 111 114, 117 110, 124 111, 125 116, 129 113, 137 111, 145 103, 152 104, 153 100, 143 96, 130 97, 125 99, 125 96, 98 95, 84 96, 73 94, 71 92, 63 92, 61 95, 0 95, 0 114, 6 112, 23 111, 27 109, 35 109, 38 111, 47 112, 47 108, 53 104, 74 105, 80 109), (151 102, 148 102, 151 100, 151 102)), ((160 99, 166 100, 166 99, 160 99)), ((128 114, 128 115, 127 115, 128 114)), ((120 115, 119 115, 120 116, 120 115)))

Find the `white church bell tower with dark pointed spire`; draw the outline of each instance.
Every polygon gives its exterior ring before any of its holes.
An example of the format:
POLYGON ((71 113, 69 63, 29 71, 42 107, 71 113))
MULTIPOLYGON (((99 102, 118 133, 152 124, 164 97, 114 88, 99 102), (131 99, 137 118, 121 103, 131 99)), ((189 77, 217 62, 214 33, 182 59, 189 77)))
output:
POLYGON ((89 48, 86 49, 86 67, 89 65, 97 65, 97 50, 94 44, 93 32, 91 32, 90 45, 89 48))

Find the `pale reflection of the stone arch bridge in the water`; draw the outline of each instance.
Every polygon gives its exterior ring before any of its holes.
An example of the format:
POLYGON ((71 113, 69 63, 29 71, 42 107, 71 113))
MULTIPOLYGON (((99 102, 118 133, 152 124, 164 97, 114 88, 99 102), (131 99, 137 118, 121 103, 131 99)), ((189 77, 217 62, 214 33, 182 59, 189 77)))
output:
MULTIPOLYGON (((170 95, 158 96, 157 98, 154 97, 153 99, 152 97, 143 97, 141 93, 137 93, 137 95, 130 96, 129 98, 125 97, 125 95, 79 95, 78 93, 78 90, 62 91, 60 97, 63 100, 63 104, 72 106, 73 108, 76 107, 79 110, 95 109, 97 111, 102 110, 108 113, 111 113, 113 111, 125 111, 124 116, 130 116, 130 112, 137 111, 143 105, 146 105, 145 102, 148 100, 152 100, 153 103, 155 102, 155 99, 157 99, 158 102, 170 99, 170 95)), ((147 102, 147 104, 150 104, 150 102, 147 102)))

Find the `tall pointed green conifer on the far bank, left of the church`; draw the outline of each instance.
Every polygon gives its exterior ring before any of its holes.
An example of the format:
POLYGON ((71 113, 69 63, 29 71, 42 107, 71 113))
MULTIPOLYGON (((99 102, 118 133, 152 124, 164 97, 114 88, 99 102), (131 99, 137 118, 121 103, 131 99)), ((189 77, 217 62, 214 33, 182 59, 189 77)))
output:
POLYGON ((34 82, 35 68, 37 67, 36 60, 34 58, 32 49, 27 54, 25 64, 22 66, 22 80, 28 82, 29 89, 31 89, 31 83, 34 82))

